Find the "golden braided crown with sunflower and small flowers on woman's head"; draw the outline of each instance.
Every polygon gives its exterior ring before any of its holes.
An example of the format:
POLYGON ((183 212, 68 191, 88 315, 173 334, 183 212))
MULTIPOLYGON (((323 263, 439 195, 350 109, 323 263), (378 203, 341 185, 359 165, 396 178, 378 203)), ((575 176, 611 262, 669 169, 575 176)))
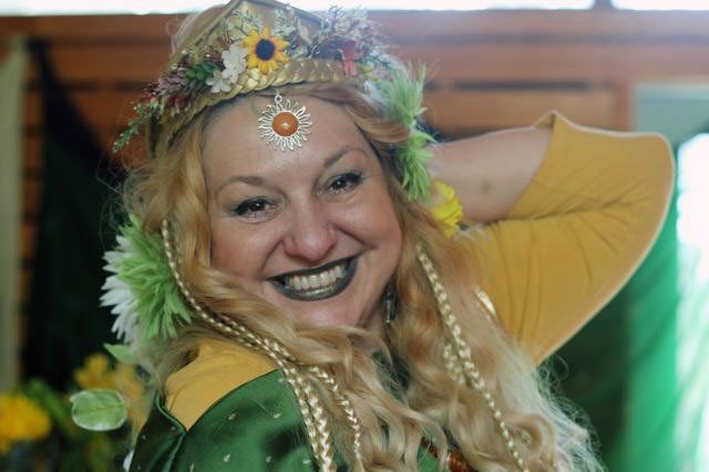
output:
POLYGON ((362 85, 390 68, 363 10, 333 7, 318 17, 276 1, 235 0, 147 85, 114 151, 145 124, 152 137, 169 140, 202 110, 236 95, 304 82, 362 85))

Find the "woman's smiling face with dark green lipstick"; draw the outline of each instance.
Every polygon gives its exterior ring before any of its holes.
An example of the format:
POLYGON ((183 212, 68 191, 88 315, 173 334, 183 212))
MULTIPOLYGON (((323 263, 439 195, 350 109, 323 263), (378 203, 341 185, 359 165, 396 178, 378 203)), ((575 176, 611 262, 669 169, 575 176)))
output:
POLYGON ((227 109, 206 130, 212 265, 300 321, 378 326, 401 253, 382 168, 342 110, 292 99, 312 122, 296 151, 260 137, 269 98, 227 109))

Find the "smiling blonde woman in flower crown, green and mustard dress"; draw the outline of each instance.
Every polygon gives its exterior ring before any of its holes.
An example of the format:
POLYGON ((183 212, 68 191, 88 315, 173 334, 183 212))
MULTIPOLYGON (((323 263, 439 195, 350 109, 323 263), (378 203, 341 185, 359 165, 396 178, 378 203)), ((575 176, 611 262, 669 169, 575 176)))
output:
POLYGON ((104 297, 157 387, 131 470, 602 469, 535 365, 648 250, 666 143, 552 114, 427 147, 380 44, 270 0, 179 31, 117 143, 152 157, 104 297))

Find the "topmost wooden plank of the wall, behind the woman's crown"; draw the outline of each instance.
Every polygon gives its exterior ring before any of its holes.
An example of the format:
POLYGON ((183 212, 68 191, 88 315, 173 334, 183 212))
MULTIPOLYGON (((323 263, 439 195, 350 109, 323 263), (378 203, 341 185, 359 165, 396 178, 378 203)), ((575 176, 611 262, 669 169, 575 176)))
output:
MULTIPOLYGON (((422 42, 434 37, 637 38, 709 40, 706 11, 372 11, 393 42, 422 42)), ((0 35, 17 32, 54 41, 133 40, 166 43, 166 25, 179 14, 119 14, 0 18, 0 35)))

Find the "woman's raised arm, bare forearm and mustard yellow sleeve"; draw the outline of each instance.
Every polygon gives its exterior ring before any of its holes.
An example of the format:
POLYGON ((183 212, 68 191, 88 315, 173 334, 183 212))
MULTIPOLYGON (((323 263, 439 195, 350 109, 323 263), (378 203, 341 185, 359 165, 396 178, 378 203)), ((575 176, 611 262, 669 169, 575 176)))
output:
POLYGON ((661 136, 558 114, 537 129, 444 144, 435 157, 433 173, 456 189, 466 216, 487 223, 467 243, 477 281, 537 362, 628 280, 672 193, 661 136))

